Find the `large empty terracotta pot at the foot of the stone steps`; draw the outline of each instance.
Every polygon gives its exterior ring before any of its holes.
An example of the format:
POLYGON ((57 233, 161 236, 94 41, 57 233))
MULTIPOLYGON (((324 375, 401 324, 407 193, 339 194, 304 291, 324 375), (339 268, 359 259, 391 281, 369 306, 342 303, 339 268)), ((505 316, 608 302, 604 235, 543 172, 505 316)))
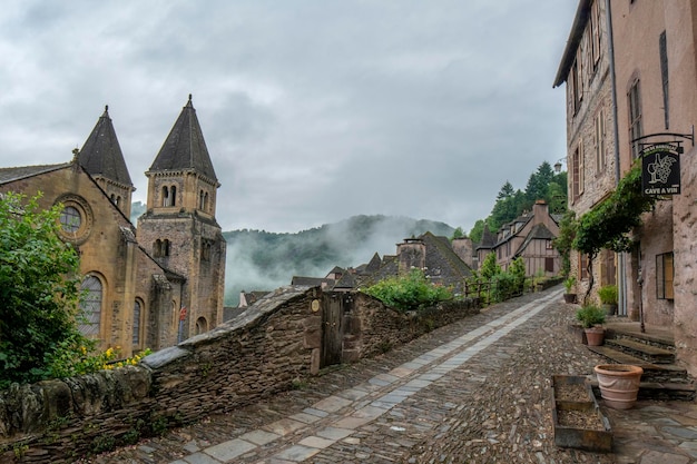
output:
POLYGON ((629 364, 601 364, 595 367, 605 404, 613 409, 629 409, 637 401, 644 369, 629 364))

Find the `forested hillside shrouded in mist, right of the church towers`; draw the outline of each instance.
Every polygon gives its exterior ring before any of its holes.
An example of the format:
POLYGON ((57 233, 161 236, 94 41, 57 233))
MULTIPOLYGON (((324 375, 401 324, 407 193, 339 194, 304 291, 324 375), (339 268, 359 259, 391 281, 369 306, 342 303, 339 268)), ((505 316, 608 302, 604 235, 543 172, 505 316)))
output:
POLYGON ((225 305, 237 306, 243 289, 273 290, 289 285, 293 276, 324 277, 334 266, 355 267, 375 253, 394 255, 397 243, 426 231, 451 237, 454 229, 406 217, 354 216, 296 234, 225 231, 225 305))

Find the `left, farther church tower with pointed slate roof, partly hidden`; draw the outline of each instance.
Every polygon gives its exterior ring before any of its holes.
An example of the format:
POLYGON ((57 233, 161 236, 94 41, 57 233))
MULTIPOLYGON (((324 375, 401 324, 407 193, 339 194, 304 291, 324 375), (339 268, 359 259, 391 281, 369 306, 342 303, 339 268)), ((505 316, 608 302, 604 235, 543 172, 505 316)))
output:
POLYGON ((136 188, 116 138, 108 106, 78 152, 77 159, 124 216, 130 217, 130 200, 136 188))

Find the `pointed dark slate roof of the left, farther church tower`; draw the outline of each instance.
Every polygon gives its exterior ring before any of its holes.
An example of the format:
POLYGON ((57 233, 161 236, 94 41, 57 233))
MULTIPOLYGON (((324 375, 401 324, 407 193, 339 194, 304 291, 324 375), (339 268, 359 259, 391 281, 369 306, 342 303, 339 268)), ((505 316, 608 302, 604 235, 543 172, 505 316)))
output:
POLYGON ((78 162, 92 177, 101 176, 124 186, 134 186, 109 117, 108 106, 85 141, 78 155, 78 162))

